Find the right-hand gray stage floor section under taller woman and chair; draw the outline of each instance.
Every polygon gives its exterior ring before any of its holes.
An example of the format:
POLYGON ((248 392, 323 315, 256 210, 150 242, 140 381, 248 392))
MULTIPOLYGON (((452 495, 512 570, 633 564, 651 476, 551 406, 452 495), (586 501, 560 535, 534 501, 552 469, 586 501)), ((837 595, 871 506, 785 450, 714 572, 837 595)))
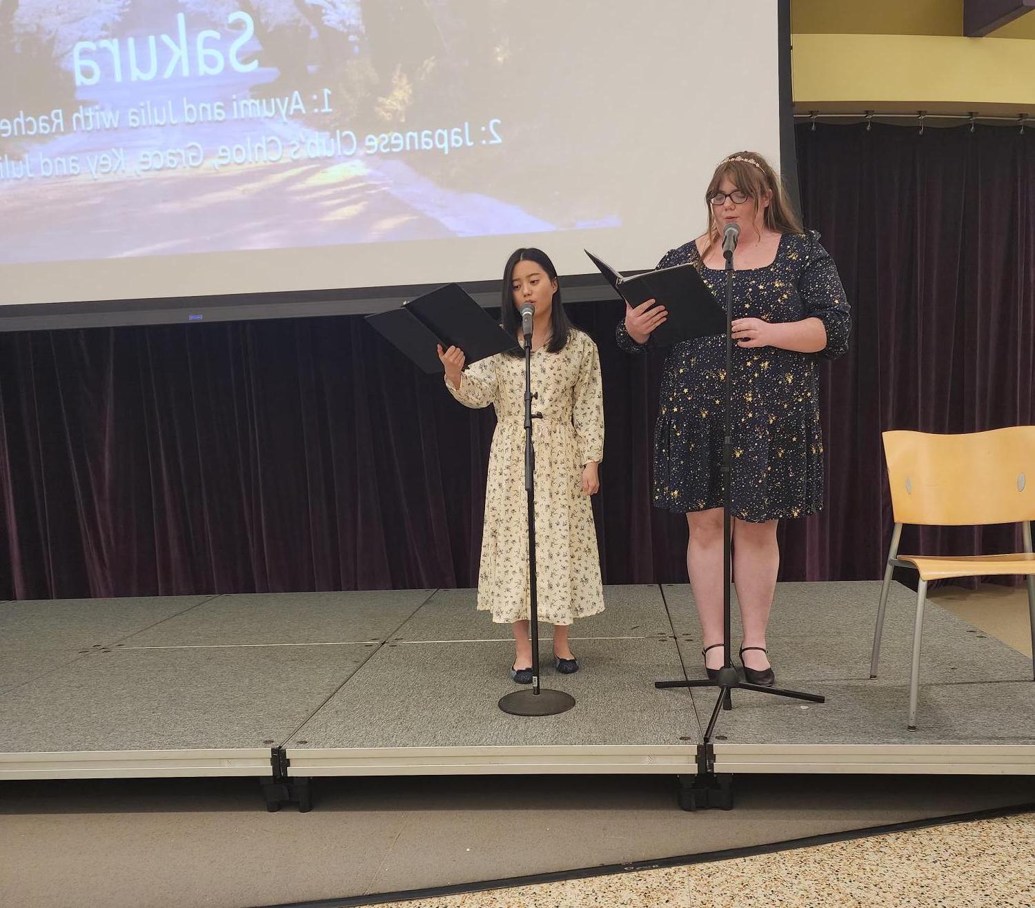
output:
MULTIPOLYGON (((662 587, 680 650, 700 664, 700 634, 685 586, 662 587)), ((720 721, 745 744, 1032 744, 1032 661, 928 605, 920 657, 916 731, 906 727, 916 596, 894 584, 878 677, 869 677, 879 583, 785 583, 773 607, 769 649, 777 683, 822 694, 822 705, 744 692, 720 721)), ((739 621, 734 641, 740 640, 739 621)), ((714 696, 696 691, 707 715, 714 696)))

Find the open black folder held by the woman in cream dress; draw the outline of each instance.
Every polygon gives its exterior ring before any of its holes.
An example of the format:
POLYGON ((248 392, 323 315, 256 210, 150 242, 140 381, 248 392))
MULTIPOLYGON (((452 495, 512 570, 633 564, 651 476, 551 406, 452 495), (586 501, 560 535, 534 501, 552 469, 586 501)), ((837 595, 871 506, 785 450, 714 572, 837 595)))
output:
POLYGON ((521 349, 516 339, 457 284, 407 300, 402 309, 366 316, 366 321, 428 375, 443 372, 438 344, 444 349, 460 347, 467 363, 521 349))

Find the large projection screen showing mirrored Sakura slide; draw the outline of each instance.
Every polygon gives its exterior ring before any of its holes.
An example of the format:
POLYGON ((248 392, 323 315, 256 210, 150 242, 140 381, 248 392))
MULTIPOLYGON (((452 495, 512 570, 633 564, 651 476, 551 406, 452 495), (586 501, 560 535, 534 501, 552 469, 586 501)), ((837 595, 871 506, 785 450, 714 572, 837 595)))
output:
POLYGON ((722 156, 780 166, 778 7, 2 0, 0 328, 652 267, 722 156))

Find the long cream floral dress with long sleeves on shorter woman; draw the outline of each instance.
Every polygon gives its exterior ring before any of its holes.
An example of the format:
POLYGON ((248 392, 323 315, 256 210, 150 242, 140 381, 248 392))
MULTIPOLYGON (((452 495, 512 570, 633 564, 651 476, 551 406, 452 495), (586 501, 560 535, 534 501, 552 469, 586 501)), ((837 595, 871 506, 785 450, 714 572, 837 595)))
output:
MULTIPOLYGON (((478 609, 498 623, 527 620, 528 499, 525 491, 525 358, 498 354, 464 371, 467 407, 496 408, 489 455, 485 523, 478 572, 478 609)), ((603 611, 600 559, 582 471, 603 457, 600 360, 589 335, 570 329, 560 353, 532 353, 535 445, 535 548, 540 621, 570 624, 603 611)))

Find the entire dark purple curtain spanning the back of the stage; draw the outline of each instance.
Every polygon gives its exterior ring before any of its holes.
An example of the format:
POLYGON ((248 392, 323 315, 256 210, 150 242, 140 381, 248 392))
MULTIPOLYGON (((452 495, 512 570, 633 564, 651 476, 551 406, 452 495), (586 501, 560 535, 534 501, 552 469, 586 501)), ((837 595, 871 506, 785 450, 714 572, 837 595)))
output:
MULTIPOLYGON (((827 506, 781 529, 781 577, 877 578, 882 430, 1035 422, 1035 134, 798 142, 855 327, 822 368, 827 506)), ((617 302, 569 312, 604 376, 604 582, 683 582, 685 521, 650 506, 660 362, 615 347, 617 302)), ((473 586, 492 427, 357 317, 0 334, 0 598, 473 586)), ((1004 527, 904 538, 1014 547, 1004 527)))

